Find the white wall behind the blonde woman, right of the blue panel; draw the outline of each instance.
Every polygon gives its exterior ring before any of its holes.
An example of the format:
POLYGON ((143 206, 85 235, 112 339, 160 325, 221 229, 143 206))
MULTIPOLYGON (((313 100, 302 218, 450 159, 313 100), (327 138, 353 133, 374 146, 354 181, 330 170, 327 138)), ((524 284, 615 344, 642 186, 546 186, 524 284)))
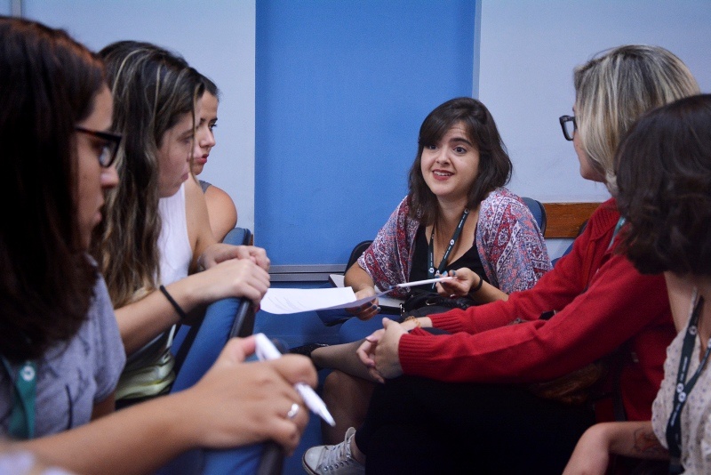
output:
POLYGON ((558 117, 571 115, 572 69, 620 44, 658 44, 711 91, 711 1, 482 0, 479 99, 514 161, 510 188, 540 201, 597 201, 558 117))

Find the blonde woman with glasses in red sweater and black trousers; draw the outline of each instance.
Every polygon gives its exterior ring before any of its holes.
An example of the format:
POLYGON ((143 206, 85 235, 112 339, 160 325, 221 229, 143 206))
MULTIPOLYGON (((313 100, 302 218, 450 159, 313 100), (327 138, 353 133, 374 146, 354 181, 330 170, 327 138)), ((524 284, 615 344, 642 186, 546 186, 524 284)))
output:
MULTIPOLYGON (((603 52, 576 68, 574 84, 576 116, 561 117, 563 134, 573 141, 583 178, 605 183, 613 195, 620 137, 644 111, 699 93, 674 54, 642 45, 603 52)), ((374 392, 363 426, 337 446, 309 449, 304 468, 356 473, 367 460, 368 471, 383 473, 463 466, 560 473, 595 421, 649 419, 675 329, 664 278, 640 274, 615 252, 618 224, 611 198, 571 253, 507 302, 403 324, 384 318, 359 354, 387 383, 374 392), (433 335, 424 329, 430 326, 449 334, 433 335), (563 404, 529 388, 603 358, 619 370, 601 384, 600 399, 563 404), (617 411, 606 394, 621 395, 617 411)))

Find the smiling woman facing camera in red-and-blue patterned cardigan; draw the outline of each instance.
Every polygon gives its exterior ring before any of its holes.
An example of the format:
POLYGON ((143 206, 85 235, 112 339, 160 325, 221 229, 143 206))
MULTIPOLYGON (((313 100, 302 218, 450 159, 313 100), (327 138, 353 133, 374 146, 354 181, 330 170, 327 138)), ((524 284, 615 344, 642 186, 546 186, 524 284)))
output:
MULTIPOLYGON (((512 170, 496 122, 481 101, 459 97, 437 106, 419 128, 408 195, 348 269, 346 285, 360 299, 375 295, 376 287, 449 273, 455 279, 437 284, 439 294, 476 303, 531 288, 551 266, 531 211, 504 188, 512 170)), ((407 291, 391 295, 405 297, 407 291)), ((378 311, 377 299, 353 310, 363 320, 378 311)), ((361 327, 369 330, 363 336, 373 329, 361 327)), ((342 440, 367 410, 374 381, 356 356, 362 342, 317 348, 310 355, 317 366, 334 368, 324 382, 324 400, 336 420, 333 428, 323 424, 327 442, 342 440)))

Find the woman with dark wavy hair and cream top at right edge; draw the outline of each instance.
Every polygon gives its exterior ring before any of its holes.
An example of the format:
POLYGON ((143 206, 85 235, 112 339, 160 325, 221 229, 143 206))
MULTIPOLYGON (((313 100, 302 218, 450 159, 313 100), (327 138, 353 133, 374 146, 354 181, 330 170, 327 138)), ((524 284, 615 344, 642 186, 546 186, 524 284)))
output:
POLYGON ((623 246, 644 274, 664 272, 675 326, 651 422, 601 423, 580 439, 566 473, 604 473, 609 453, 671 461, 670 473, 711 471, 711 95, 656 109, 617 155, 623 246))

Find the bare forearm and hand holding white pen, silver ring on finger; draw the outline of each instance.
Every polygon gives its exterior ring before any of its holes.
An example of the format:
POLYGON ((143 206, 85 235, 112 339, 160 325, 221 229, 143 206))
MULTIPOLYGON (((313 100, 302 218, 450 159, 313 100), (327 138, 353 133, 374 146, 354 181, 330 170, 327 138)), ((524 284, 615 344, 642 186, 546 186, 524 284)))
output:
POLYGON ((308 410, 292 384, 315 385, 316 371, 296 355, 244 363, 253 351, 253 338, 233 340, 193 388, 12 446, 87 474, 149 473, 189 448, 241 447, 267 439, 292 452, 308 423, 308 410), (294 402, 301 407, 290 420, 285 415, 294 402))

